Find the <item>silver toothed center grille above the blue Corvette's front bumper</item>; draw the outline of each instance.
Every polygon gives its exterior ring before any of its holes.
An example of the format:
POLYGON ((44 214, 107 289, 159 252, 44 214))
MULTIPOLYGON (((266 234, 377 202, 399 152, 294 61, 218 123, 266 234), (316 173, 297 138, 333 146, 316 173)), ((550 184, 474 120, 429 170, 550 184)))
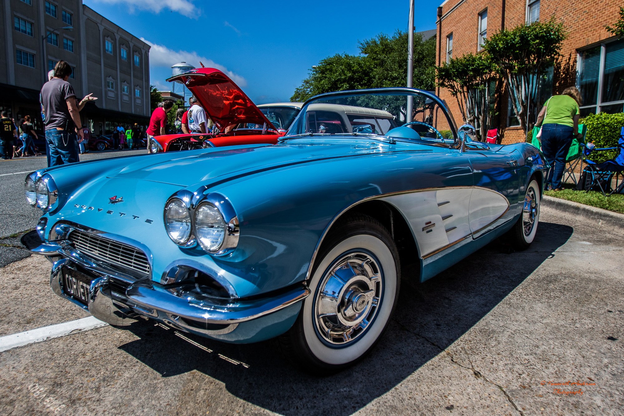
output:
POLYGON ((132 247, 132 245, 105 239, 80 230, 73 230, 69 234, 69 240, 74 243, 79 252, 84 252, 111 264, 135 270, 142 275, 149 275, 150 273, 150 264, 147 261, 147 256, 141 250, 132 247))

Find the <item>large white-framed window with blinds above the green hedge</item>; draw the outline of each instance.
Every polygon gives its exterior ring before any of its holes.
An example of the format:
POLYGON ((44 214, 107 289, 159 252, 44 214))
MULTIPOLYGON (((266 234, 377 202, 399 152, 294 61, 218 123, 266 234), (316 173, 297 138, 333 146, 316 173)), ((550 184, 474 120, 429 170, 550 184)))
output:
POLYGON ((624 39, 580 52, 581 116, 624 111, 624 39), (600 61, 605 62, 603 69, 600 61))

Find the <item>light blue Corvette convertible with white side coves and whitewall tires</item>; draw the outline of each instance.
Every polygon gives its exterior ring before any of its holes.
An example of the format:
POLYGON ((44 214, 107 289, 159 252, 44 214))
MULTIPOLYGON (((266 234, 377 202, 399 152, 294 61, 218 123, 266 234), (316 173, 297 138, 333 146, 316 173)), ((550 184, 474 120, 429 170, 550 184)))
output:
POLYGON ((497 237, 528 247, 546 169, 530 144, 475 141, 429 92, 333 92, 274 146, 33 172, 44 214, 22 243, 52 262, 57 295, 112 325, 278 337, 328 374, 378 342, 406 266, 423 282, 497 237))

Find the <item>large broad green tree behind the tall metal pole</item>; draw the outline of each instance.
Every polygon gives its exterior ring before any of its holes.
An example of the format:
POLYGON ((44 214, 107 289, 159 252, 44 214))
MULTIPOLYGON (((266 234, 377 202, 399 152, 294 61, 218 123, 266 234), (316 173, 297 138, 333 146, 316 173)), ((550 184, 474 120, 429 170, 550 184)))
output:
MULTIPOLYGON (((407 83, 407 32, 392 37, 379 34, 359 42, 359 55, 336 54, 313 66, 310 76, 290 97, 305 101, 323 92, 378 87, 404 87, 407 83)), ((414 36, 414 87, 433 89, 435 82, 436 39, 422 41, 414 36)))

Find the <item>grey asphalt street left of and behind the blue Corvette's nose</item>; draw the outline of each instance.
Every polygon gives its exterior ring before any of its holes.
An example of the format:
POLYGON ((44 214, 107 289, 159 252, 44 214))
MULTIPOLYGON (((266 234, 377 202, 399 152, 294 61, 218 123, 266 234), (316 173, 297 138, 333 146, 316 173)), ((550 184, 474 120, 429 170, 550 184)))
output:
MULTIPOLYGON (((80 155, 80 161, 146 153, 147 149, 89 152, 80 155)), ((39 221, 41 210, 29 206, 24 199, 24 178, 30 172, 44 167, 47 167, 45 155, 17 157, 9 161, 0 160, 0 196, 2 196, 0 198, 0 267, 28 255, 15 247, 7 247, 19 245, 19 241, 6 237, 32 229, 39 221)))

